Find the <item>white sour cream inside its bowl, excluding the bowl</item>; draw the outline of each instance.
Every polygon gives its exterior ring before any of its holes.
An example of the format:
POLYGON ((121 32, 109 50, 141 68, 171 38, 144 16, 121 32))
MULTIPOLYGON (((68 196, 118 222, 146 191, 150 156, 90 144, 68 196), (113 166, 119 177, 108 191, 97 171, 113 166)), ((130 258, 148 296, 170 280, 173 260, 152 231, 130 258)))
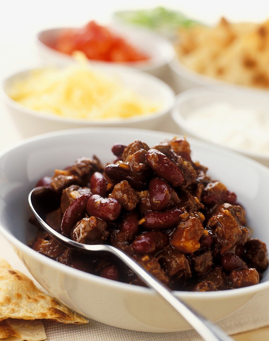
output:
POLYGON ((269 155, 269 108, 239 108, 216 102, 191 112, 189 129, 201 137, 230 148, 269 155))

